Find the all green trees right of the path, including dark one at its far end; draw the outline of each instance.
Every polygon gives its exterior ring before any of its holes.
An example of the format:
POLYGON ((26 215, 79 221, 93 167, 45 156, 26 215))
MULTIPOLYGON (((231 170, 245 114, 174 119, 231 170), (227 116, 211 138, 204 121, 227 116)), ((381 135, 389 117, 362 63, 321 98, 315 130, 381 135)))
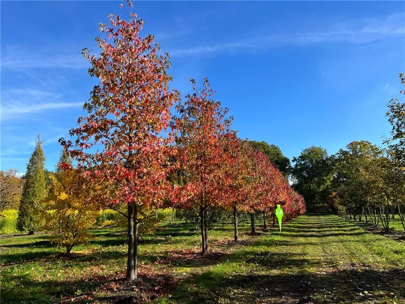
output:
MULTIPOLYGON (((405 84, 402 73, 399 77, 405 84)), ((294 188, 304 196, 307 209, 340 209, 348 217, 365 218, 386 231, 398 216, 405 230, 404 113, 403 101, 389 101, 386 116, 392 129, 382 146, 353 141, 332 156, 312 146, 294 158, 294 188)))

